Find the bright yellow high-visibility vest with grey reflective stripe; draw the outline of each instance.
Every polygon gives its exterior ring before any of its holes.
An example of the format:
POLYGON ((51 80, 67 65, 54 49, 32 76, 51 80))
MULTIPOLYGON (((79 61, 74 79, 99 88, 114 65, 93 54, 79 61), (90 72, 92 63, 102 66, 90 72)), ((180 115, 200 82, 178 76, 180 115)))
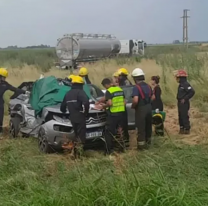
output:
POLYGON ((109 108, 111 113, 125 111, 124 92, 120 87, 110 87, 107 91, 113 96, 112 106, 109 108))

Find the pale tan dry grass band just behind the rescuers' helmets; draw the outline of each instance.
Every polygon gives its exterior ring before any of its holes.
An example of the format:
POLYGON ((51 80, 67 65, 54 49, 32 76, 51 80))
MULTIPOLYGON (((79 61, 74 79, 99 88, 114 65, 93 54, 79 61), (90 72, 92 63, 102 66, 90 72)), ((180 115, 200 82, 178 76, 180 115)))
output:
MULTIPOLYGON (((111 77, 112 74, 119 68, 116 61, 114 60, 111 60, 107 63, 96 62, 94 64, 85 64, 84 66, 88 68, 90 79, 96 85, 100 85, 102 78, 106 76, 111 77)), ((146 74, 147 80, 149 80, 152 75, 161 74, 161 67, 157 65, 154 60, 144 59, 141 63, 133 63, 130 66, 124 64, 122 65, 122 67, 127 68, 129 72, 131 72, 136 67, 142 68, 146 74)), ((75 74, 77 72, 78 70, 74 71, 75 74)), ((21 69, 9 69, 8 82, 13 84, 14 86, 18 86, 23 81, 31 81, 38 79, 40 77, 40 74, 44 74, 45 76, 54 75, 56 77, 67 77, 69 76, 70 72, 68 70, 59 70, 57 68, 52 68, 49 72, 43 73, 34 66, 25 65, 21 69)))

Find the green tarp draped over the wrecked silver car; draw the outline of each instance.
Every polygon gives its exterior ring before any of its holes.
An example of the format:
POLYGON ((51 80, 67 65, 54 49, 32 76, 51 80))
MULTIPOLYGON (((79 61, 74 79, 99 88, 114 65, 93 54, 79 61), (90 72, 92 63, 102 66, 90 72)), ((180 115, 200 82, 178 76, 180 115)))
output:
MULTIPOLYGON (((61 103, 70 89, 70 86, 59 85, 54 76, 37 80, 30 95, 30 104, 35 110, 35 115, 39 115, 44 107, 61 103)), ((90 98, 90 89, 87 84, 84 85, 84 91, 90 98)))

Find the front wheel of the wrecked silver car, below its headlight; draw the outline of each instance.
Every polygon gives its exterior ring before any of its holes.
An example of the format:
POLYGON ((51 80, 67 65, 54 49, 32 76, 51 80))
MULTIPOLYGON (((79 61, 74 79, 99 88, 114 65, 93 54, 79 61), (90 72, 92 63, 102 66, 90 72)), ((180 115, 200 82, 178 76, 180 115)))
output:
POLYGON ((52 148, 48 144, 48 139, 45 134, 45 131, 42 128, 40 129, 39 135, 38 135, 38 147, 39 147, 39 150, 43 153, 51 153, 52 152, 52 148))

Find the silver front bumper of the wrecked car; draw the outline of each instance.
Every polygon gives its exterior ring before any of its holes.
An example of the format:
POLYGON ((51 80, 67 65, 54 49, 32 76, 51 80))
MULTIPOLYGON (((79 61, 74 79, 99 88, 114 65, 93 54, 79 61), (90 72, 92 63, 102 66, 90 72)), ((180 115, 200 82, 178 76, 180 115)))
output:
MULTIPOLYGON (((93 137, 86 137, 86 140, 93 141, 96 139, 101 139, 103 136, 104 127, 105 122, 87 125, 87 133, 99 132, 99 135, 93 137)), ((75 140, 75 134, 71 124, 64 124, 55 120, 51 120, 43 124, 41 126, 41 129, 44 130, 48 143, 54 147, 59 148, 62 147, 62 145, 66 143, 68 140, 75 140)))

